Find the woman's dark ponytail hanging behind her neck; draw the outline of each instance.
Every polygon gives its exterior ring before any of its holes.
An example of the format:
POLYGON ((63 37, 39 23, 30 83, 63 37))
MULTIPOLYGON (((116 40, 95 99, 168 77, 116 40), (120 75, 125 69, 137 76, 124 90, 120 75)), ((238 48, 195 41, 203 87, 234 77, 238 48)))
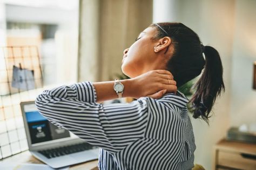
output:
POLYGON ((196 93, 192 96, 193 118, 201 117, 208 124, 212 106, 221 91, 225 91, 223 82, 223 66, 217 50, 204 46, 205 66, 203 74, 194 86, 196 93))

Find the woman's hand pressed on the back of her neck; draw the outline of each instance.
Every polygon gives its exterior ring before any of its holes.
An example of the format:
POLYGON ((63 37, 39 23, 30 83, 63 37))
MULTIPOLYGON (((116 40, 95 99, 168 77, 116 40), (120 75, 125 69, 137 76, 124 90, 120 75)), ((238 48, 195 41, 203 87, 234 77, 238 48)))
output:
POLYGON ((134 98, 158 99, 165 93, 177 91, 176 81, 173 80, 172 73, 167 70, 152 70, 130 80, 133 88, 131 96, 134 98))

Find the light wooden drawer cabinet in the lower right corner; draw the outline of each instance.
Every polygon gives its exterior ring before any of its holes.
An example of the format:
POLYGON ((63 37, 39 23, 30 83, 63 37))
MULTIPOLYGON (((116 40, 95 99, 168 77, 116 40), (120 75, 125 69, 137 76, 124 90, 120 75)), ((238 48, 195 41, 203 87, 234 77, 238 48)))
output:
POLYGON ((212 169, 256 169, 256 144, 221 140, 214 146, 212 169))

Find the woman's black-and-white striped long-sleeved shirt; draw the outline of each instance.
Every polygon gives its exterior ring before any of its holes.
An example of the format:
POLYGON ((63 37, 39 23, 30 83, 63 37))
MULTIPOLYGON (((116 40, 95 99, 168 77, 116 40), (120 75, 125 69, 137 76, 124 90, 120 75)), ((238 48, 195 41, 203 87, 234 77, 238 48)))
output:
POLYGON ((96 103, 90 81, 45 90, 36 99, 51 123, 100 147, 99 169, 191 169, 196 145, 183 93, 131 103, 96 103))

